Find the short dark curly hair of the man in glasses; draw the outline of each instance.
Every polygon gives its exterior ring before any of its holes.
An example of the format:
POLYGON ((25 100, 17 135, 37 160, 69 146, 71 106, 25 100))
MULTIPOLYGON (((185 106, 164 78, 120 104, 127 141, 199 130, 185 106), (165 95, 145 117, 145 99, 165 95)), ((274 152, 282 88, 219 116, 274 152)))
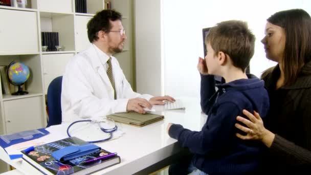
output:
POLYGON ((112 29, 110 20, 122 20, 121 13, 111 9, 102 10, 97 12, 95 16, 90 21, 88 21, 87 37, 91 43, 93 41, 97 41, 99 31, 108 32, 110 29, 112 29))

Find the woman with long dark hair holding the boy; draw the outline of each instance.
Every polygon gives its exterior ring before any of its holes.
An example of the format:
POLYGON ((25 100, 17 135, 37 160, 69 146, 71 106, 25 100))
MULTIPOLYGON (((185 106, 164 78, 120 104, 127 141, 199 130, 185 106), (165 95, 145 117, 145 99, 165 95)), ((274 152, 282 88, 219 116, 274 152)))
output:
POLYGON ((270 112, 261 120, 258 113, 243 110, 236 127, 259 140, 268 149, 262 171, 285 174, 311 171, 311 18, 302 9, 280 11, 267 19, 261 40, 266 57, 278 64, 262 74, 270 97, 270 112))

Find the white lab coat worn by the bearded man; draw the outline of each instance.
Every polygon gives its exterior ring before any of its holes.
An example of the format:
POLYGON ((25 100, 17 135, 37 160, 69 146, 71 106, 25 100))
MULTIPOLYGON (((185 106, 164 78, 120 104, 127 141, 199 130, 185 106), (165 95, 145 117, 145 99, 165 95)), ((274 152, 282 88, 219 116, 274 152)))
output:
POLYGON ((131 89, 118 60, 112 56, 117 93, 115 100, 114 89, 106 74, 108 58, 95 45, 91 45, 66 64, 61 90, 63 121, 126 112, 128 99, 140 97, 149 100, 152 97, 131 89))

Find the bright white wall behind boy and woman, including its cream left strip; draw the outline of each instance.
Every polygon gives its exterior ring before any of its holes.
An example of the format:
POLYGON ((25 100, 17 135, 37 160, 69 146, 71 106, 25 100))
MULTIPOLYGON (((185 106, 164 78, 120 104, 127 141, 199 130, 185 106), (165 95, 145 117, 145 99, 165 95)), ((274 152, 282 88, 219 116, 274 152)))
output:
POLYGON ((199 97, 200 78, 196 64, 198 56, 204 55, 202 28, 230 19, 247 21, 254 32, 257 39, 250 67, 251 73, 260 76, 262 71, 275 65, 265 58, 260 42, 266 18, 292 8, 302 8, 311 14, 311 2, 307 0, 136 0, 138 92, 160 91, 174 97, 199 97), (159 35, 163 38, 161 41, 159 35), (153 85, 147 87, 149 83, 153 85))

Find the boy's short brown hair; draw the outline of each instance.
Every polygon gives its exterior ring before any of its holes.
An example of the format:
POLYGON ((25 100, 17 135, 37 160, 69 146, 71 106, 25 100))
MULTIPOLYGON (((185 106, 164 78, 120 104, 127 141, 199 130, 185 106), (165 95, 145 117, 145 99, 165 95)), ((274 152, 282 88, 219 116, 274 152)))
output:
POLYGON ((215 51, 229 55, 232 64, 245 72, 254 55, 255 35, 240 20, 227 20, 212 27, 205 37, 215 51))

